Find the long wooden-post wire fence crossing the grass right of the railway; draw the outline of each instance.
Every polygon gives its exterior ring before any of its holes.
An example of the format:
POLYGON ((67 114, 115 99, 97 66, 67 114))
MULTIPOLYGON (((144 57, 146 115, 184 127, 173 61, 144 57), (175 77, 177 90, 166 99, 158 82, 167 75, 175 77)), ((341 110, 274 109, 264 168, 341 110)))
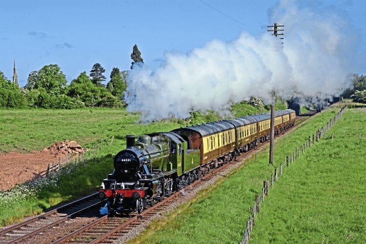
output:
MULTIPOLYGON (((284 164, 286 167, 289 167, 291 163, 293 163, 297 158, 300 157, 300 155, 304 154, 305 151, 310 148, 312 145, 314 145, 316 142, 319 141, 319 139, 322 136, 325 136, 325 132, 328 132, 330 128, 338 121, 338 119, 342 116, 343 112, 347 109, 347 105, 344 106, 332 119, 330 119, 329 122, 326 123, 325 127, 322 127, 321 129, 318 129, 316 133, 309 135, 306 142, 303 143, 300 147, 295 147, 295 150, 291 152, 290 155, 286 156, 284 159, 284 164)), ((359 135, 361 138, 361 134, 359 135)), ((334 133, 331 135, 331 139, 334 138, 334 133)), ((246 221, 246 229, 244 232, 244 237, 242 239, 242 242, 239 244, 247 244, 250 240, 250 232, 252 228, 255 225, 255 216, 260 210, 261 203, 264 201, 264 196, 268 195, 269 188, 273 187, 273 184, 277 181, 278 177, 282 176, 283 174, 283 163, 281 163, 280 168, 275 168, 274 173, 271 174, 270 180, 264 180, 263 182, 263 188, 262 188, 262 194, 255 195, 255 203, 254 206, 250 207, 250 217, 246 221)))

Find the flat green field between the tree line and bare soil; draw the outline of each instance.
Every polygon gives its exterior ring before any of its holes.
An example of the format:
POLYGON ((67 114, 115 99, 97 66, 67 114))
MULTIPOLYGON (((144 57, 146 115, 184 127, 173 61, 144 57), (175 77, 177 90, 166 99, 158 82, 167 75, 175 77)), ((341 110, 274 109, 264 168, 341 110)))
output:
POLYGON ((122 109, 0 110, 0 152, 42 150, 56 141, 85 146, 97 139, 123 136, 138 119, 122 109))

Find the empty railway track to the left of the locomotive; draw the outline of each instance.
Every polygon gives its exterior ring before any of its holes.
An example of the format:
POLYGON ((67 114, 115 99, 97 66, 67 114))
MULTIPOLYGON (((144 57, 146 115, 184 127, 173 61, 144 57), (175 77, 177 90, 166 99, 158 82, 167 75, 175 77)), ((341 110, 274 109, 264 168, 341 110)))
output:
POLYGON ((98 193, 84 197, 0 231, 0 243, 20 243, 101 204, 98 193))

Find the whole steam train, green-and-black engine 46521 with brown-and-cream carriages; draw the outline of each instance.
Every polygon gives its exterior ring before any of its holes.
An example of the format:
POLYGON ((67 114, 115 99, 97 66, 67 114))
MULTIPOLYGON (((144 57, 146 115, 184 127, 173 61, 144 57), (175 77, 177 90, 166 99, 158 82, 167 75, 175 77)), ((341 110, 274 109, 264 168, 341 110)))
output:
MULTIPOLYGON (((295 111, 275 112, 275 134, 294 125, 295 111)), ((202 125, 126 136, 126 149, 114 157, 114 171, 102 181, 99 196, 110 215, 141 213, 191 184, 210 169, 269 139, 270 113, 202 125)))

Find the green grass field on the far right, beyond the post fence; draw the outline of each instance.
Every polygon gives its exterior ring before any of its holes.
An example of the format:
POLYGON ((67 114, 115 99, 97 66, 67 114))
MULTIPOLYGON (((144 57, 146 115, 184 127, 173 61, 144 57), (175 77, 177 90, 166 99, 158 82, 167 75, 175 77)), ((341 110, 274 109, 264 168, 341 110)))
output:
POLYGON ((286 169, 250 243, 366 242, 365 125, 366 109, 349 109, 329 131, 333 140, 320 140, 286 169))

